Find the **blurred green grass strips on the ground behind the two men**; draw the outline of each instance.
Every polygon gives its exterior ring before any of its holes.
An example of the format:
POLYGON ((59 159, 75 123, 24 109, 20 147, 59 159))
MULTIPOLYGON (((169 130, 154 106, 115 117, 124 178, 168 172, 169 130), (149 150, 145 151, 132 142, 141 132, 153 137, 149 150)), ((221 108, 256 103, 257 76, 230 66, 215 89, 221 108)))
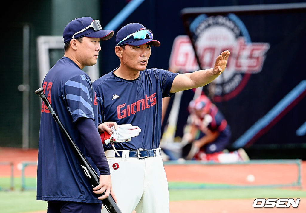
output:
MULTIPOLYGON (((27 186, 35 186, 35 178, 27 178, 27 186)), ((47 202, 36 200, 36 190, 21 191, 21 180, 15 178, 15 190, 0 191, 0 206, 2 213, 20 213, 46 211, 47 202)), ((0 178, 0 186, 9 186, 8 178, 0 178)), ((175 183, 169 183, 173 185, 175 183)), ((3 187, 4 188, 4 187, 3 187)), ((256 198, 306 198, 305 190, 295 189, 194 189, 194 190, 169 190, 170 204, 175 201, 186 200, 222 200, 225 199, 256 199, 256 198)), ((304 200, 304 199, 301 199, 304 200)), ((186 210, 186 212, 188 212, 186 210)), ((205 211, 203 211, 205 212, 205 211)))

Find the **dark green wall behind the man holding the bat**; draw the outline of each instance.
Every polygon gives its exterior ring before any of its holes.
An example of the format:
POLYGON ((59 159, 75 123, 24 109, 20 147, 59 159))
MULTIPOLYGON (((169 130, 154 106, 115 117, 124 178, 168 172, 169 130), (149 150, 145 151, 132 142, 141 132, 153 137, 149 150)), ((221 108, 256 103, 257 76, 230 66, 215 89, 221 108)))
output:
MULTIPOLYGON (((0 146, 22 147, 22 97, 18 85, 23 83, 23 27, 30 27, 29 52, 29 147, 38 147, 40 99, 35 90, 38 81, 36 39, 41 35, 62 35, 66 24, 78 17, 99 19, 99 1, 45 0, 9 3, 2 14, 5 24, 2 42, 2 78, 0 94, 0 146), (4 11, 5 10, 5 11, 4 11)), ((56 55, 57 59, 62 55, 56 55)), ((54 59, 52 61, 56 61, 54 59)), ((53 64, 51 64, 52 66, 53 64)))

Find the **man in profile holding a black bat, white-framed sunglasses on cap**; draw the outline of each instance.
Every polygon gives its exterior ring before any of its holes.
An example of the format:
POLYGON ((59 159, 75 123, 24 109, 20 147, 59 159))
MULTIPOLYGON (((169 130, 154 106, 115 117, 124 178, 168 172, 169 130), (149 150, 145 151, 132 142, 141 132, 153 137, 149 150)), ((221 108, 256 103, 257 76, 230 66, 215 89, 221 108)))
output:
POLYGON ((97 99, 89 76, 82 71, 97 62, 100 40, 113 36, 99 20, 72 20, 63 32, 64 56, 49 70, 42 86, 47 99, 88 162, 100 174, 92 187, 69 142, 43 103, 37 171, 37 200, 48 201, 48 212, 101 212, 101 200, 111 194, 110 169, 99 132, 112 134, 115 122, 99 124, 97 99), (99 128, 99 132, 98 132, 99 128), (105 195, 101 193, 105 191, 105 195), (94 193, 93 193, 94 192, 94 193), (95 194, 96 193, 96 194, 95 194))

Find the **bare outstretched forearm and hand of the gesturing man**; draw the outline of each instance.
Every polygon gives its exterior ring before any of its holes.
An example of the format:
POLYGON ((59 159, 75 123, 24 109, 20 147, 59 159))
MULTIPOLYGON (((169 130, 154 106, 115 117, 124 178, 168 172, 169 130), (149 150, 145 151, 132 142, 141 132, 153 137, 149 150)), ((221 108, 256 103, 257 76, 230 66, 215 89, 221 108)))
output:
POLYGON ((223 51, 217 57, 213 68, 198 70, 192 73, 178 74, 173 80, 170 92, 179 92, 181 90, 197 88, 209 84, 225 70, 229 56, 230 51, 223 51))

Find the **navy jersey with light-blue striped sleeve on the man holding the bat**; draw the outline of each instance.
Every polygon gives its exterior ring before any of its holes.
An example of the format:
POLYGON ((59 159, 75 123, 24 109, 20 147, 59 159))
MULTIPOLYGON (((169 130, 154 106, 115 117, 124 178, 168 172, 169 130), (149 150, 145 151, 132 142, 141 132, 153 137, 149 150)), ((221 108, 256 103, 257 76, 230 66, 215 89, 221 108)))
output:
MULTIPOLYGON (((95 120, 97 99, 89 76, 72 60, 63 57, 49 70, 43 81, 44 93, 67 132, 95 171, 75 122, 79 117, 95 120)), ((37 200, 65 200, 99 203, 92 186, 70 148, 69 142, 43 103, 41 108, 37 200)))

